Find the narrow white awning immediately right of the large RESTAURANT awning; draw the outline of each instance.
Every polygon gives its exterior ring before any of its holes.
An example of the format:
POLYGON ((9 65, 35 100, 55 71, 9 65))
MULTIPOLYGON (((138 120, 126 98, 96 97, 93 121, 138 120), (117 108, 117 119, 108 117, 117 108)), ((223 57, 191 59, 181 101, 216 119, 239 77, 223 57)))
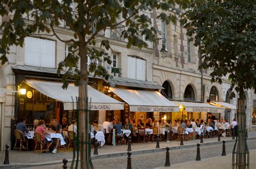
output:
POLYGON ((173 101, 175 104, 178 105, 184 105, 185 110, 187 112, 224 112, 225 109, 206 104, 206 103, 196 103, 196 102, 179 102, 179 101, 173 101))

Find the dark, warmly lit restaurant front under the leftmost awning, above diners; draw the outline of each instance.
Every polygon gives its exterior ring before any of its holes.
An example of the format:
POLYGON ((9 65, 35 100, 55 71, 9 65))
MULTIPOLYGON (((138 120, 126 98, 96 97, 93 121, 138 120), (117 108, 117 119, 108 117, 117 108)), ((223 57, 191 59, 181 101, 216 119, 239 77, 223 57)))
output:
POLYGON ((36 89, 33 89, 25 82, 18 86, 18 121, 21 117, 26 117, 26 124, 32 125, 34 119, 43 119, 45 124, 49 124, 52 119, 60 121, 66 117, 68 121, 76 119, 76 112, 64 110, 62 102, 48 97, 36 89))

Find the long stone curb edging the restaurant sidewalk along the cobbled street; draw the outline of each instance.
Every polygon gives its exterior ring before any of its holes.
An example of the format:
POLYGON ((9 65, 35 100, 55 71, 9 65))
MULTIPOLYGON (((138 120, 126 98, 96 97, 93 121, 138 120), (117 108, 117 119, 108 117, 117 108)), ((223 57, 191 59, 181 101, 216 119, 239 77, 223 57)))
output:
MULTIPOLYGON (((247 138, 247 140, 254 140, 256 137, 250 137, 247 138)), ((226 143, 232 143, 235 139, 226 140, 226 143)), ((223 144, 222 142, 210 142, 210 143, 200 143, 200 146, 207 146, 207 145, 217 145, 217 144, 223 144)), ((197 147, 197 144, 191 144, 191 145, 183 145, 183 146, 173 146, 170 147, 171 150, 179 150, 179 149, 189 149, 197 147)), ((132 155, 138 155, 138 154, 146 154, 146 153, 156 153, 156 152, 165 152, 166 147, 160 147, 159 149, 145 149, 145 150, 137 150, 132 151, 132 155)), ((126 157, 127 151, 125 152, 118 152, 118 153, 112 153, 112 154, 102 154, 97 156, 92 156, 91 159, 104 159, 104 158, 114 158, 114 157, 126 157)), ((68 161, 72 161, 72 159, 68 159, 68 161)), ((55 161, 45 161, 42 163, 30 163, 30 164, 9 164, 9 165, 0 165, 0 168, 26 168, 26 167, 35 167, 35 166, 44 166, 44 165, 54 165, 54 164, 62 164, 62 160, 55 160, 55 161)))

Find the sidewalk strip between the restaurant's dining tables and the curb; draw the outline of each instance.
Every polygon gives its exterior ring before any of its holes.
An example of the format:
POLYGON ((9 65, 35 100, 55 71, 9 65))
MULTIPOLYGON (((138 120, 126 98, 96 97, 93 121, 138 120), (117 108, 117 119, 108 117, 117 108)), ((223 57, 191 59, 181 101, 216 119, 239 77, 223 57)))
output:
MULTIPOLYGON (((248 133, 248 139, 256 139, 256 131, 248 133)), ((222 140, 226 140, 228 142, 234 142, 232 137, 221 137, 221 142, 217 141, 217 137, 214 138, 206 138, 204 139, 204 143, 201 146, 206 145, 214 145, 214 144, 222 144, 222 140)), ((146 154, 146 153, 154 153, 154 152, 164 152, 165 147, 171 147, 171 150, 178 149, 187 149, 191 147, 196 147, 196 144, 200 142, 200 139, 184 141, 184 146, 180 146, 180 142, 177 140, 171 140, 170 142, 160 142, 160 149, 156 149, 156 142, 149 143, 133 143, 131 146, 132 154, 146 154)), ((98 155, 93 155, 94 149, 91 150, 92 160, 94 159, 104 159, 104 158, 113 158, 113 157, 126 157, 127 156, 127 145, 106 145, 98 149, 98 155)), ((0 152, 0 168, 3 167, 5 152, 0 152)), ((69 150, 68 152, 60 151, 59 153, 35 153, 33 151, 9 151, 9 161, 11 165, 14 164, 35 164, 35 165, 45 165, 45 164, 58 164, 62 163, 62 159, 72 159, 73 152, 69 150)), ((6 165, 5 165, 6 167, 6 165)))

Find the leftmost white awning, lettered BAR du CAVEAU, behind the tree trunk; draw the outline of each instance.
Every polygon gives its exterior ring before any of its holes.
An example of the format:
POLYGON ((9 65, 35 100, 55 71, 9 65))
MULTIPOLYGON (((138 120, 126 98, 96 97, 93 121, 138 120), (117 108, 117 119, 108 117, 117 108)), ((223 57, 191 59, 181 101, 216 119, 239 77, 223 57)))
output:
MULTIPOLYGON (((64 103, 64 110, 76 109, 76 97, 78 97, 78 87, 70 83, 67 89, 63 89, 62 82, 52 82, 43 80, 30 80, 26 82, 32 88, 38 90, 42 94, 54 98, 55 100, 64 103), (72 100, 73 98, 73 100, 72 100), (73 107, 74 105, 74 107, 73 107)), ((100 91, 93 89, 91 86, 88 88, 88 102, 91 110, 123 110, 124 103, 109 97, 100 91)))

